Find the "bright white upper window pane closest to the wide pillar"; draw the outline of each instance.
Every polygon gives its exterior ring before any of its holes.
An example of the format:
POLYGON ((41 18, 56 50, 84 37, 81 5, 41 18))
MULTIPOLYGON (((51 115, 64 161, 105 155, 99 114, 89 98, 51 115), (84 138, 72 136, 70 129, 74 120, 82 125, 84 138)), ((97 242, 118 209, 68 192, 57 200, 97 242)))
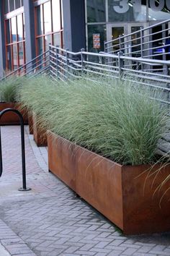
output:
POLYGON ((52 1, 53 12, 53 31, 61 30, 61 12, 60 12, 60 0, 52 1))

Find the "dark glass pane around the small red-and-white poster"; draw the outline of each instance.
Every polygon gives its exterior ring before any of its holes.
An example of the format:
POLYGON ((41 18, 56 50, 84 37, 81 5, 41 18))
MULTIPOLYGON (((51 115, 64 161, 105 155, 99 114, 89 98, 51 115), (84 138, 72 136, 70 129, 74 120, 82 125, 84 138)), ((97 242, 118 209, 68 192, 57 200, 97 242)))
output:
POLYGON ((99 52, 104 51, 104 40, 106 40, 105 25, 89 25, 88 26, 88 51, 99 52), (99 46, 94 47, 94 34, 99 34, 99 46))

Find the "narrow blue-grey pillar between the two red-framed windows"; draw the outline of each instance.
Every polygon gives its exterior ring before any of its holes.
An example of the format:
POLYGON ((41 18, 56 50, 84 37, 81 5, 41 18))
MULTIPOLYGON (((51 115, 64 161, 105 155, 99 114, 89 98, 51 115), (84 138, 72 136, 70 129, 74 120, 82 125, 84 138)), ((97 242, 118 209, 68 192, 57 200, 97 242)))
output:
POLYGON ((25 22, 25 54, 26 62, 34 59, 35 51, 35 17, 33 1, 24 0, 24 22, 25 22))

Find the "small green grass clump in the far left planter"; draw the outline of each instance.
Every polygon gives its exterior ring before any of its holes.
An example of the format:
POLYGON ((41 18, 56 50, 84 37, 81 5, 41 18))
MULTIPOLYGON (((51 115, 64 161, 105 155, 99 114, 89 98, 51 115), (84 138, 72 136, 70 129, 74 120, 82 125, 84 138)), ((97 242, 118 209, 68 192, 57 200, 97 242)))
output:
POLYGON ((19 98, 19 90, 26 82, 26 77, 7 77, 0 82, 0 102, 17 102, 19 98))

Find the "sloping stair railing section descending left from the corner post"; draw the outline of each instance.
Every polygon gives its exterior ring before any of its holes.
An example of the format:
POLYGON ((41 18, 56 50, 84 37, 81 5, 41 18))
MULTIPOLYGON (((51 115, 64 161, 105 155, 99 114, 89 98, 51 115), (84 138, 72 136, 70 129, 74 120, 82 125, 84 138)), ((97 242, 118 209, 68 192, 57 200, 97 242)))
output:
POLYGON ((10 72, 9 74, 6 74, 4 77, 0 79, 4 80, 7 77, 10 77, 12 75, 37 75, 42 74, 43 72, 47 72, 49 69, 49 50, 45 51, 44 53, 40 54, 39 56, 35 57, 31 61, 28 61, 26 64, 22 65, 18 69, 15 69, 14 71, 10 72))

